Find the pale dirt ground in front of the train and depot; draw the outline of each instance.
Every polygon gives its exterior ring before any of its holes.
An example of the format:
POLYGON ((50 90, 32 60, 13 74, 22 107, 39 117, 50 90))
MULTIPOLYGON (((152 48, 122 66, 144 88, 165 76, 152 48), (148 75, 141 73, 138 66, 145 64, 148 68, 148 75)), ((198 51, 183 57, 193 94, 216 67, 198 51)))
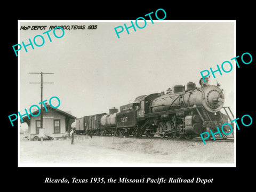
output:
MULTIPOLYGON (((153 140, 90 137, 76 135, 70 140, 28 141, 20 137, 20 165, 79 164, 81 166, 119 166, 122 164, 232 164, 233 142, 153 140), (85 164, 85 165, 83 165, 85 164)), ((78 166, 79 166, 78 165, 78 166)), ((47 166, 47 165, 46 165, 47 166)), ((137 165, 138 166, 138 165, 137 165)), ((146 165, 147 166, 147 165, 146 165)), ((172 166, 172 165, 171 165, 172 166)))

